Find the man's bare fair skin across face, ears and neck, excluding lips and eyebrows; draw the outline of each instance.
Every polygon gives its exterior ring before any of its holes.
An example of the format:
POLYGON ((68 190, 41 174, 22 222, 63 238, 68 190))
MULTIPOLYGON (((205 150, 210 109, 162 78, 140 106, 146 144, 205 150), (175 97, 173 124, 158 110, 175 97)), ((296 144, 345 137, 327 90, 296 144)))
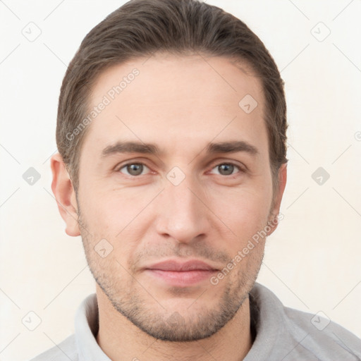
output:
POLYGON ((133 68, 140 71, 92 121, 78 195, 61 156, 51 158, 66 233, 82 235, 97 281, 97 342, 114 361, 243 360, 252 347, 248 293, 266 238, 217 285, 207 279, 170 286, 143 267, 201 259, 223 269, 279 213, 286 164, 272 194, 262 85, 249 68, 245 73, 222 57, 145 60, 112 66, 93 87, 95 105, 133 68), (246 94, 258 103, 250 114, 238 105, 246 94), (102 157, 118 140, 152 143, 161 153, 102 157), (209 142, 240 140, 257 154, 207 153, 209 142), (229 162, 235 166, 225 171, 229 162), (140 175, 124 166, 139 163, 140 175), (174 166, 185 176, 178 185, 167 178, 174 166), (94 250, 102 239, 113 247, 104 258, 94 250))

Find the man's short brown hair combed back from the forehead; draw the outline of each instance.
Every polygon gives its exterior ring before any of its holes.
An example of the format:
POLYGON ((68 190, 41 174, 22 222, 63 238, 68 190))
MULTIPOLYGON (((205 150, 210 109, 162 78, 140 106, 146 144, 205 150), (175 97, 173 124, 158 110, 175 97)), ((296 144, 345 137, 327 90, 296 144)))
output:
POLYGON ((75 192, 87 129, 76 132, 88 113, 92 85, 107 67, 155 52, 225 56, 247 63, 262 82, 264 118, 274 190, 286 159, 286 99, 283 80, 263 42, 221 8, 197 0, 131 0, 107 16, 82 40, 61 85, 56 144, 75 192), (69 136, 71 135, 71 136, 69 136))

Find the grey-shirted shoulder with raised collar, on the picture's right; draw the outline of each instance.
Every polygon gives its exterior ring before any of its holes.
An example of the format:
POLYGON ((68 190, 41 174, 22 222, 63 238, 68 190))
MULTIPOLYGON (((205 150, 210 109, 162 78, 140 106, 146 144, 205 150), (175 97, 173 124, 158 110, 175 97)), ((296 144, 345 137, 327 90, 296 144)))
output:
POLYGON ((361 360, 360 338, 323 312, 312 314, 285 307, 259 283, 250 297, 256 307, 253 314, 257 317, 257 353, 269 344, 260 360, 361 360))

